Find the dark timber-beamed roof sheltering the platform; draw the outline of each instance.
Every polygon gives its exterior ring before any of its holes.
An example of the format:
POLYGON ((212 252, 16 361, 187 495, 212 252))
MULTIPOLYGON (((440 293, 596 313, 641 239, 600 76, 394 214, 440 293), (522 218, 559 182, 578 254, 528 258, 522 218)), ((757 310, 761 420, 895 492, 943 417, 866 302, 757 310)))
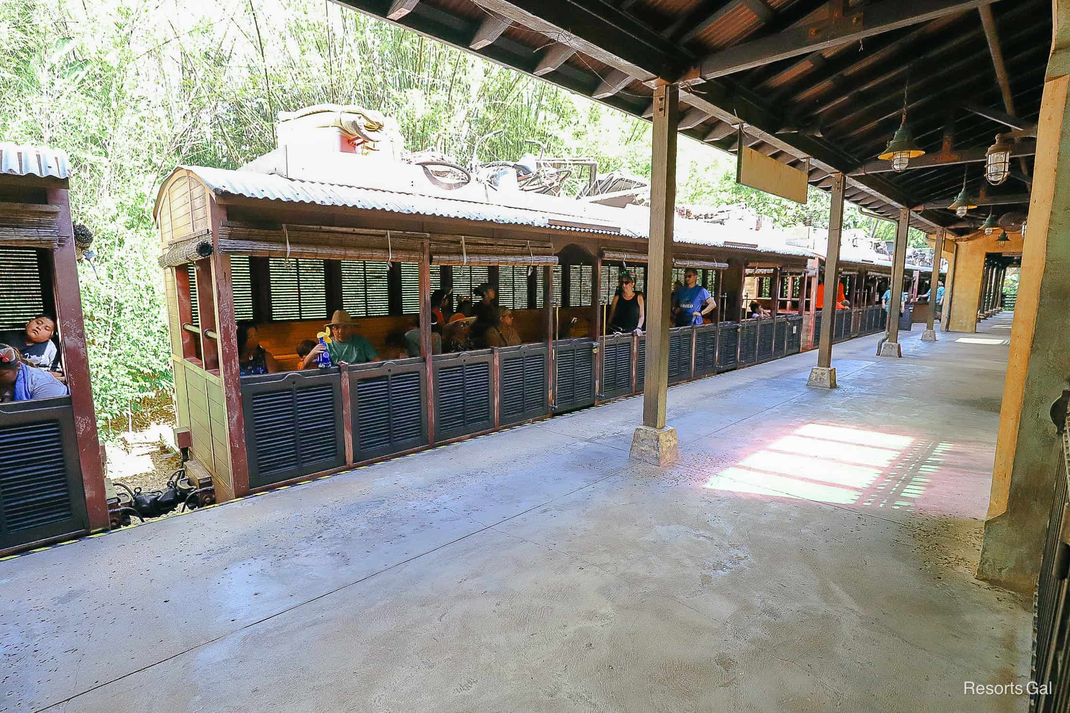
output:
POLYGON ((849 0, 838 18, 827 0, 422 0, 404 13, 339 2, 637 117, 653 114, 652 77, 683 80, 683 134, 735 152, 743 125, 747 145, 808 170, 811 185, 828 190, 844 173, 847 200, 890 219, 908 207, 930 233, 969 234, 988 206, 1028 204, 1035 142, 1019 141, 999 187, 982 166, 996 133, 1038 120, 1045 0, 849 0), (486 6, 511 25, 473 49, 486 6), (907 83, 907 125, 926 155, 896 172, 876 156, 899 127, 907 83), (966 167, 967 190, 982 200, 960 218, 948 204, 966 167))

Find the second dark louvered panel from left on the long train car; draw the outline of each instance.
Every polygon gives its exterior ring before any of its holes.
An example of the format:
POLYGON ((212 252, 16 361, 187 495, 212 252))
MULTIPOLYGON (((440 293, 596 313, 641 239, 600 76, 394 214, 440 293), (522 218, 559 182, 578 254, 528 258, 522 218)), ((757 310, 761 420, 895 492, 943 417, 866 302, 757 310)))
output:
POLYGON ((426 443, 423 379, 418 372, 355 378, 354 458, 396 453, 426 443))

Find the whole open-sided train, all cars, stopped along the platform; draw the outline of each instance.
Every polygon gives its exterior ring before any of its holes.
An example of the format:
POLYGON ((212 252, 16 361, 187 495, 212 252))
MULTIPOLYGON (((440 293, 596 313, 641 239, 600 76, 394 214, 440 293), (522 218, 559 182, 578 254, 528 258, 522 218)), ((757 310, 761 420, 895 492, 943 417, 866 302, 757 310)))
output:
MULTIPOLYGON (((333 141, 345 131, 330 127, 333 141)), ((280 133, 280 136, 282 134, 280 133)), ((0 404, 0 557, 128 522, 105 492, 61 152, 0 144, 0 329, 57 315, 70 396, 0 404)), ((337 145, 337 144, 335 144, 337 145)), ((282 145, 246 170, 181 167, 154 216, 187 505, 224 501, 642 391, 645 337, 611 334, 623 270, 644 291, 645 212, 447 190, 427 167, 282 145), (309 156, 316 157, 315 161, 309 156), (318 180, 314 180, 318 176, 318 180), (381 188, 368 187, 384 186, 381 188), (496 288, 520 342, 434 353, 448 314, 496 288), (418 330, 425 356, 299 369, 336 310, 380 354, 418 330), (275 373, 242 376, 238 326, 275 373)), ((322 146, 320 146, 322 149, 322 146)), ((671 329, 671 384, 816 346, 820 258, 677 219, 673 277, 694 268, 714 319, 671 329), (770 316, 743 319, 752 301, 770 316)), ((882 331, 890 264, 841 259, 835 340, 882 331)), ((907 266, 911 291, 928 267, 907 266)), ((832 291, 828 291, 832 295, 832 291)), ((923 309, 919 309, 922 313, 923 309)), ((902 317, 910 328, 911 312, 902 317)), ((110 489, 109 489, 110 490, 110 489)))

